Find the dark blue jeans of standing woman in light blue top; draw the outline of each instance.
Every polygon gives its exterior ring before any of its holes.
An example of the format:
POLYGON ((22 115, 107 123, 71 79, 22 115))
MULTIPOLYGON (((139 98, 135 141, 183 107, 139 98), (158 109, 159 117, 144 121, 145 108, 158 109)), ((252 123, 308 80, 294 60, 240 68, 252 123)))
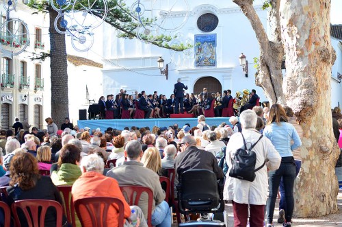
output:
MULTIPOLYGON (((288 157, 286 157, 288 158, 288 157)), ((285 219, 291 222, 293 214, 293 185, 295 182, 295 165, 294 163, 281 163, 279 169, 269 171, 269 195, 267 200, 267 222, 273 223, 274 207, 276 205, 276 196, 280 179, 284 180, 285 200, 287 204, 287 214, 285 219)))

